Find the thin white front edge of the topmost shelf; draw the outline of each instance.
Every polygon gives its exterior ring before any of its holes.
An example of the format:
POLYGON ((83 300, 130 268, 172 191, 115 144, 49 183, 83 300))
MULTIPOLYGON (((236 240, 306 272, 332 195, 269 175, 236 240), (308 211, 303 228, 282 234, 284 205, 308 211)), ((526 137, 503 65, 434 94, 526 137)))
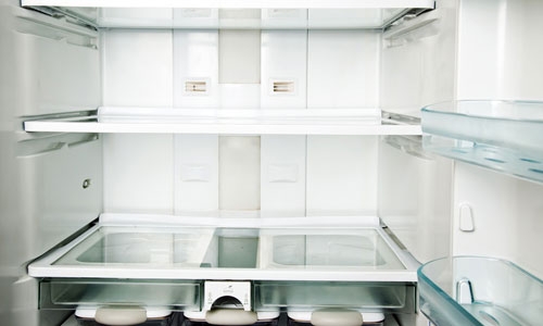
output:
POLYGON ((22 0, 22 5, 100 8, 388 9, 433 8, 433 0, 22 0))

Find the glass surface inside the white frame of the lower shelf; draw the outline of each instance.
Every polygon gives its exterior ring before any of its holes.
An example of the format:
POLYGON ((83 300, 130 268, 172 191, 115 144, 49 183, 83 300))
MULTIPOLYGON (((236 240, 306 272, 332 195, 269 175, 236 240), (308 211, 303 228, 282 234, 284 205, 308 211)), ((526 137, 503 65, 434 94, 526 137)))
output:
POLYGON ((371 228, 102 226, 54 265, 405 269, 381 235, 371 228))

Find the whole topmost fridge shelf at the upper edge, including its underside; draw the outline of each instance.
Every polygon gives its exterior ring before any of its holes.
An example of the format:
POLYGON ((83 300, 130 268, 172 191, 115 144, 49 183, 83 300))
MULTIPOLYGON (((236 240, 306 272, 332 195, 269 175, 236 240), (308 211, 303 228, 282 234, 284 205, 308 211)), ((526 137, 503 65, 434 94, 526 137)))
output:
POLYGON ((94 27, 383 28, 433 0, 23 0, 24 7, 76 17, 94 27))

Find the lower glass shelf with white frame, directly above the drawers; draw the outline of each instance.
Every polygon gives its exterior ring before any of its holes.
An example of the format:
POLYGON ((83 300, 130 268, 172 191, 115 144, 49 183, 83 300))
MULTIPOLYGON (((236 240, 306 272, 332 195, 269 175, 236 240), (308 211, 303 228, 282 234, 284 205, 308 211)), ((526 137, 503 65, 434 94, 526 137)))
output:
MULTIPOLYGON (((169 217, 164 225, 143 222, 119 225, 102 218, 72 243, 31 263, 29 275, 416 281, 418 263, 382 230, 377 217, 345 217, 344 223, 341 217, 289 218, 290 222, 281 218, 169 217), (353 221, 367 222, 356 225, 353 221)), ((138 221, 137 216, 129 218, 138 221)))

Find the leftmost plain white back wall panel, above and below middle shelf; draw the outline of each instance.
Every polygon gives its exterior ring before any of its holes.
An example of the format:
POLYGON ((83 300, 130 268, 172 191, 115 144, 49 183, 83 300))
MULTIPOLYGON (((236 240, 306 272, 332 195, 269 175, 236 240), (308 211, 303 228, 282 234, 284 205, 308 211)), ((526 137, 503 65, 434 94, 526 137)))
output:
MULTIPOLYGON (((103 32, 103 104, 172 106, 172 32, 103 32)), ((173 136, 103 135, 104 212, 173 212, 173 136)))

